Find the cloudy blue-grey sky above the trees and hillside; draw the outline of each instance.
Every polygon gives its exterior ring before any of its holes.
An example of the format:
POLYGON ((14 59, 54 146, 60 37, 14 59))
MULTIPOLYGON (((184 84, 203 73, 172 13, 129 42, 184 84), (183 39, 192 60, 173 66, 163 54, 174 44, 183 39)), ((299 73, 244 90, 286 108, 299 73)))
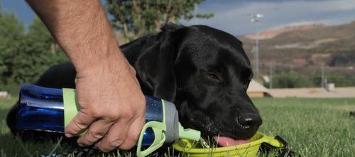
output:
MULTIPOLYGON (((24 0, 0 0, 5 11, 16 13, 26 25, 35 13, 24 0)), ((183 25, 209 25, 232 35, 256 32, 251 15, 263 14, 259 30, 281 28, 286 25, 324 23, 338 25, 355 21, 355 0, 206 0, 195 13, 214 13, 213 18, 181 20, 183 25)))

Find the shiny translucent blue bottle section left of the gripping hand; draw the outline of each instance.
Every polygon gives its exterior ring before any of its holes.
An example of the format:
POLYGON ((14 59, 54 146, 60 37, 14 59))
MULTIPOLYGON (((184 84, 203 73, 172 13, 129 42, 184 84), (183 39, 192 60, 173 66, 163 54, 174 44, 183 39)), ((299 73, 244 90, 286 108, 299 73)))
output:
POLYGON ((23 84, 19 95, 16 127, 64 132, 62 90, 23 84))

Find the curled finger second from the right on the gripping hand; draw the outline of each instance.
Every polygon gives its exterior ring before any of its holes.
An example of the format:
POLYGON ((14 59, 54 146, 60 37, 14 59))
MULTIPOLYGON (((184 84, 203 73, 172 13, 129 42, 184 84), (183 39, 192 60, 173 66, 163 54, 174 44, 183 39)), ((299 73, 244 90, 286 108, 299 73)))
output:
POLYGON ((104 136, 104 138, 95 146, 104 152, 118 149, 119 146, 124 142, 124 139, 126 139, 128 129, 129 121, 122 119, 119 120, 119 122, 116 122, 112 125, 106 136, 104 136))

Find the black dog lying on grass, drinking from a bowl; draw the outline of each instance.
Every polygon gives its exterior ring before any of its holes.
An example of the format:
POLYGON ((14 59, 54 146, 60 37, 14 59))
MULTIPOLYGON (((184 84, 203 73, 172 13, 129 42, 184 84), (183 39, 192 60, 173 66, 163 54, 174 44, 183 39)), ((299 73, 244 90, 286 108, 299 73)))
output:
MULTIPOLYGON (((249 139, 261 125, 246 94, 251 64, 236 37, 204 25, 170 24, 121 50, 136 69, 143 93, 174 102, 184 127, 200 130, 202 136, 249 139)), ((52 66, 35 84, 75 88, 74 80, 74 66, 64 63, 52 66)), ((17 105, 7 117, 13 133, 18 132, 17 105)))

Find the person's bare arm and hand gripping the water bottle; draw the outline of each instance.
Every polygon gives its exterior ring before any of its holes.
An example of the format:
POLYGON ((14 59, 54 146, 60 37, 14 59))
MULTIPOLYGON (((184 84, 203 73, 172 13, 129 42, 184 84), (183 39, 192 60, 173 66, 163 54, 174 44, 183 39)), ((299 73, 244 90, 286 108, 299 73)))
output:
POLYGON ((81 146, 130 149, 144 124, 145 98, 97 0, 27 0, 77 71, 80 112, 65 129, 81 146))

